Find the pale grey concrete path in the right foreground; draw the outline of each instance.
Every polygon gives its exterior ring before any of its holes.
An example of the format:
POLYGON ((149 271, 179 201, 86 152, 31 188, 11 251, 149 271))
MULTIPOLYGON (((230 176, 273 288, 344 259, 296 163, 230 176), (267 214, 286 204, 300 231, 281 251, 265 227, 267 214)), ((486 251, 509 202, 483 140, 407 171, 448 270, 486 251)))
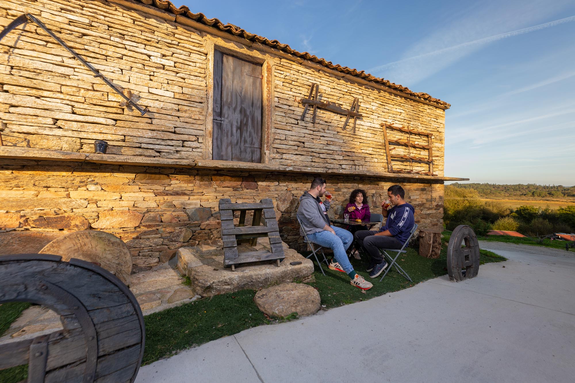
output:
POLYGON ((490 245, 509 261, 477 278, 251 328, 141 367, 136 382, 572 382, 575 259, 490 245))

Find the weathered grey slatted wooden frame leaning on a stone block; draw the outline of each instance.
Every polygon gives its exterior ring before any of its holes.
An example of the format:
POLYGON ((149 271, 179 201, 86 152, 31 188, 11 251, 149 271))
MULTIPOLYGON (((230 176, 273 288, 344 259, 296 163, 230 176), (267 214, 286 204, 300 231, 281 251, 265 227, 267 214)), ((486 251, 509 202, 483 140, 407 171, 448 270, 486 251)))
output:
POLYGON ((274 204, 271 198, 264 198, 257 204, 232 204, 229 198, 222 198, 218 204, 221 217, 221 240, 224 243, 224 266, 232 267, 239 263, 260 261, 279 262, 285 258, 282 239, 279 236, 278 222, 275 220, 274 204), (233 211, 240 211, 240 221, 237 227, 233 224, 233 211), (247 210, 254 210, 251 226, 246 224, 247 210), (260 225, 263 224, 263 225, 260 225), (271 252, 267 250, 237 252, 238 242, 249 242, 255 246, 258 238, 267 237, 270 240, 271 252))

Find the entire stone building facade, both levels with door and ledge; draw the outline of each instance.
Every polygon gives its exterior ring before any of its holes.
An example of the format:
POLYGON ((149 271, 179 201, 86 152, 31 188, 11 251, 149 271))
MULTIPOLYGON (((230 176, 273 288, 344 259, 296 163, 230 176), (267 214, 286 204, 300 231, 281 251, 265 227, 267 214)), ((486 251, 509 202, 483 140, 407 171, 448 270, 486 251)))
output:
MULTIPOLYGON (((161 0, 2 0, 0 26, 32 14, 133 104, 27 22, 0 41, 0 228, 48 238, 96 229, 132 250, 135 271, 215 242, 220 198, 272 198, 284 242, 301 244, 297 198, 328 179, 338 215, 350 191, 378 205, 401 183, 420 227, 442 225, 444 111, 425 93, 332 64, 161 0), (313 84, 319 101, 301 120, 313 84), (337 105, 336 105, 337 106, 337 105), (386 149, 381 124, 430 133, 386 149), (108 143, 95 154, 94 141, 108 143), (418 148, 417 144, 421 147, 418 148), (388 154, 432 155, 433 173, 392 173, 388 154)), ((312 95, 312 98, 314 95, 312 95)), ((388 140, 405 132, 388 129, 388 140)), ((394 170, 428 164, 394 162, 394 170)))

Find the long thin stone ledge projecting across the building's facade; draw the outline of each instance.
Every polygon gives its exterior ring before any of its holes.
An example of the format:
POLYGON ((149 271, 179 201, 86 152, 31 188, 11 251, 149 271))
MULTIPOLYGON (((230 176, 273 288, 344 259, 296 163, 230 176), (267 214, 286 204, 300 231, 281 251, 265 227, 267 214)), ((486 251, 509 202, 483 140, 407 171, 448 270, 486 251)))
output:
POLYGON ((93 162, 152 167, 204 168, 214 170, 243 170, 279 173, 310 173, 325 175, 355 175, 375 178, 410 179, 413 181, 469 181, 469 178, 437 177, 431 175, 399 174, 386 171, 324 169, 307 166, 284 166, 269 163, 220 161, 207 159, 171 159, 159 157, 124 156, 115 154, 78 153, 61 150, 34 149, 14 146, 0 147, 0 158, 93 162))

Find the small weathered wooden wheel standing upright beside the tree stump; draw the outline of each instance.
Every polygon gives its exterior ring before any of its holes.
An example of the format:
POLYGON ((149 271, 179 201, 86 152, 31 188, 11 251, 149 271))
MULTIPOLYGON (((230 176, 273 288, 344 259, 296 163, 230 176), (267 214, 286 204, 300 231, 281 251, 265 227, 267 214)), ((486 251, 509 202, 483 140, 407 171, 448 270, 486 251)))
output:
POLYGON ((451 234, 447 246, 447 273, 452 281, 477 277, 479 243, 472 228, 459 225, 451 234), (465 246, 462 247, 462 244, 465 246))

